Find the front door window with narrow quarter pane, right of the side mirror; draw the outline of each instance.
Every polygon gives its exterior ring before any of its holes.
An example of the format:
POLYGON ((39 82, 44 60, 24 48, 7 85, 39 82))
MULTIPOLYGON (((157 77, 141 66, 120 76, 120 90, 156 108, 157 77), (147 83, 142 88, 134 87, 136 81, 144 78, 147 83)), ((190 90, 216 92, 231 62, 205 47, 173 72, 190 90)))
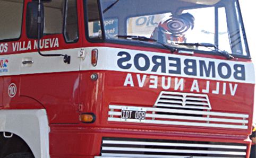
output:
POLYGON ((55 0, 44 3, 44 10, 45 35, 63 33, 66 42, 78 40, 78 14, 75 0, 55 0))

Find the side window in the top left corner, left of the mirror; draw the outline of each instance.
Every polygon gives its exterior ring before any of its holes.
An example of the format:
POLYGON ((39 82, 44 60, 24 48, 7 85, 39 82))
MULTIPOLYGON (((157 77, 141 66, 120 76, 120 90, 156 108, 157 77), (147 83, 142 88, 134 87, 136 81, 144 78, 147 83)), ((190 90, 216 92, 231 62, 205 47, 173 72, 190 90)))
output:
POLYGON ((0 0, 0 40, 21 36, 23 1, 0 0))

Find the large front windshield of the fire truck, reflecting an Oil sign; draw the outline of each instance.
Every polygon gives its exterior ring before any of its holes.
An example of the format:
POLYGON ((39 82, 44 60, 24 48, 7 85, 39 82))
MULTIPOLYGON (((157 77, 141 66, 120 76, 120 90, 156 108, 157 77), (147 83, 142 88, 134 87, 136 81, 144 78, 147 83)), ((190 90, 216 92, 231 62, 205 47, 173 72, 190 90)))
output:
MULTIPOLYGON (((88 3, 90 10, 97 2, 88 3)), ((91 39, 138 42, 129 37, 140 36, 177 48, 249 55, 236 0, 100 0, 99 6, 104 25, 100 25, 99 15, 91 17, 95 15, 88 13, 91 39), (191 43, 211 43, 217 48, 191 43)))

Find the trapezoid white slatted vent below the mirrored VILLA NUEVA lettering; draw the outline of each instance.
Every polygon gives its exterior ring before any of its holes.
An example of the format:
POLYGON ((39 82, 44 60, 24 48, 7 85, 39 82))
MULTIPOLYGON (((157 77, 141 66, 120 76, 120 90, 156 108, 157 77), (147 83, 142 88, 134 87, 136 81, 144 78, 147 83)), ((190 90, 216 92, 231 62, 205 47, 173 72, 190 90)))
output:
POLYGON ((211 109, 208 95, 178 92, 161 92, 155 106, 161 108, 211 109))

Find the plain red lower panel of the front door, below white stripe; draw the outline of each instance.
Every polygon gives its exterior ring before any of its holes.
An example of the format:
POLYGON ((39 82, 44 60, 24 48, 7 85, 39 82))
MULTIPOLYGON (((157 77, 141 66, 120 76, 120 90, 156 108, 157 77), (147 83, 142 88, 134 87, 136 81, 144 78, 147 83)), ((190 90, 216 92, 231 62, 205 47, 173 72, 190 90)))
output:
POLYGON ((79 72, 21 75, 20 95, 40 102, 50 124, 79 121, 79 72))

